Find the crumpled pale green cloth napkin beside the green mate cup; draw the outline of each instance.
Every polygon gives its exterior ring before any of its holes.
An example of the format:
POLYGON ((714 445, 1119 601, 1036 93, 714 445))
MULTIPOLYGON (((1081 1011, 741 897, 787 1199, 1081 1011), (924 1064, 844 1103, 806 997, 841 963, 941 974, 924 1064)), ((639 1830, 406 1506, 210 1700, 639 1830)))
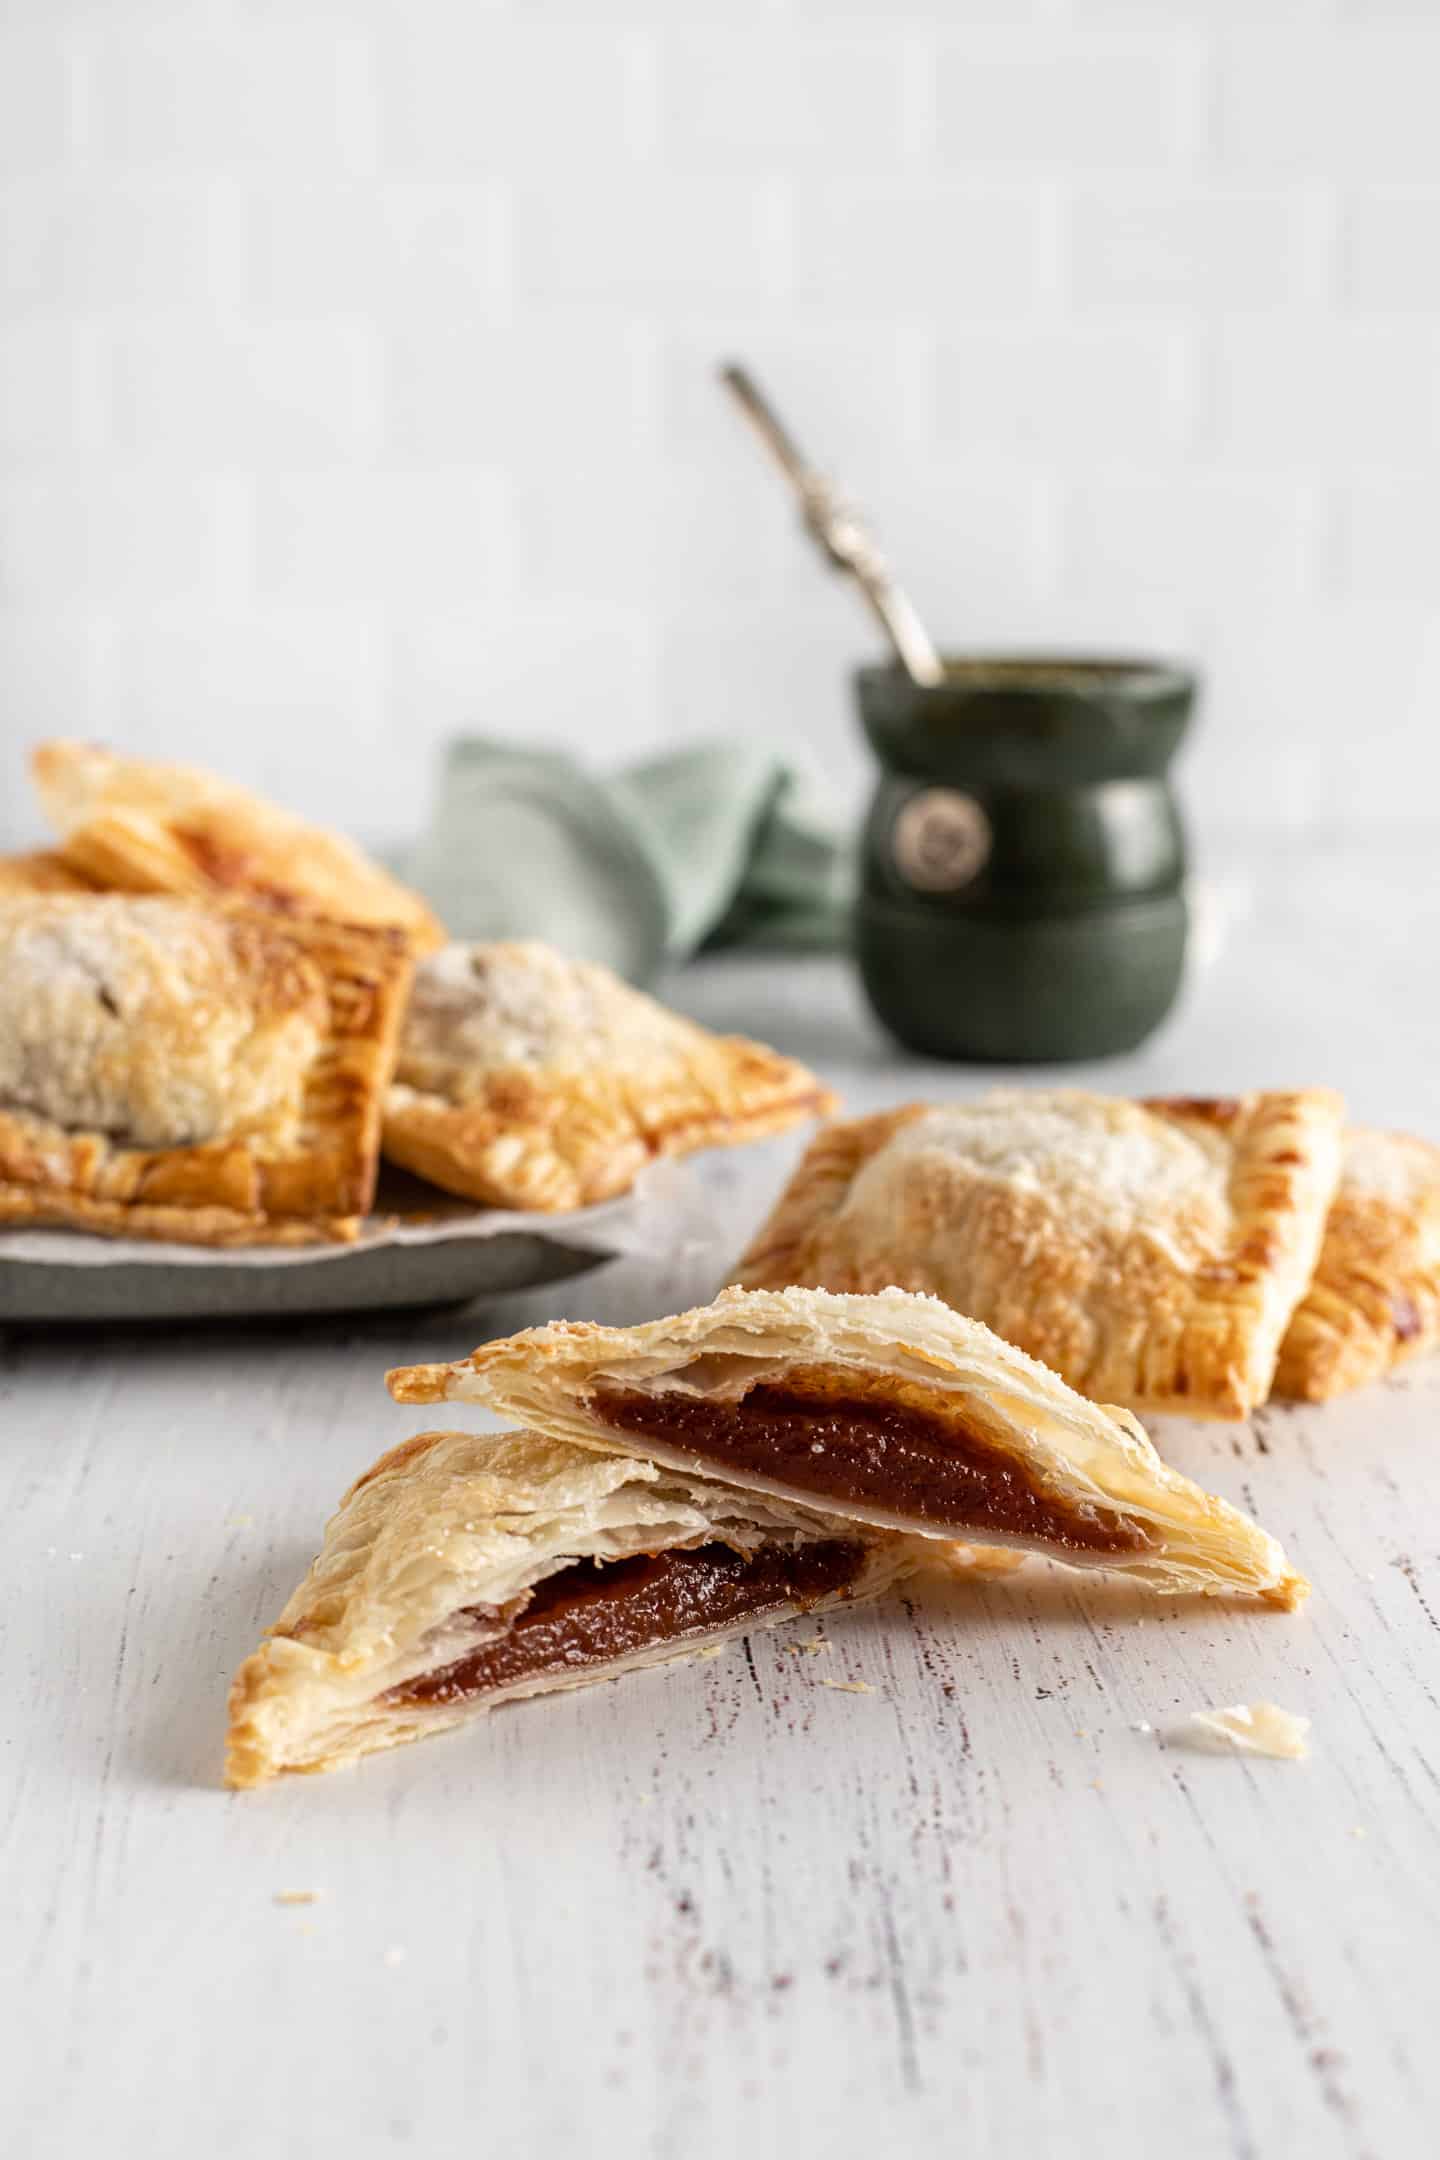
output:
POLYGON ((840 942, 851 864, 797 775, 702 743, 609 780, 561 750, 449 745, 408 877, 456 937, 544 937, 633 983, 702 946, 840 942))

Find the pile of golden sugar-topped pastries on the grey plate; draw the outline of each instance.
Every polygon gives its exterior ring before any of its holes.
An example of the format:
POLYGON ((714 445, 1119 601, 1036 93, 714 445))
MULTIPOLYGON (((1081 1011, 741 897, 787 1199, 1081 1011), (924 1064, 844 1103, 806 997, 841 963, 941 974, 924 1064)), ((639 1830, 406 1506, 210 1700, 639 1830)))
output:
POLYGON ((540 944, 447 944, 358 847, 186 765, 37 750, 58 849, 0 862, 0 1223, 354 1238, 380 1151, 481 1205, 833 1108, 540 944))

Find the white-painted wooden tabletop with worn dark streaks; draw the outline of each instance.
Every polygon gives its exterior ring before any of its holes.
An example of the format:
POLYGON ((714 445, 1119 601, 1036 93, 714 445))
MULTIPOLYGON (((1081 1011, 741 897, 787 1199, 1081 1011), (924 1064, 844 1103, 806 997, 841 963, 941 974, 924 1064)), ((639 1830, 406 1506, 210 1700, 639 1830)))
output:
MULTIPOLYGON (((1220 957, 1103 1084, 1332 1080, 1440 1134, 1431 888, 1416 853, 1326 847, 1222 881, 1220 957)), ((900 1061, 840 963, 710 963, 676 996, 857 1108, 993 1078, 900 1061)), ((1032 1566, 831 1618, 820 1655, 758 1633, 220 1791, 233 1665, 352 1473, 415 1430, 382 1369, 708 1294, 792 1153, 710 1158, 715 1244, 658 1274, 460 1318, 9 1339, 11 2160, 1438 2149, 1440 1361, 1157 1428, 1313 1575, 1300 1618, 1032 1566), (823 1685, 855 1678, 874 1691, 823 1685), (1254 1698, 1313 1717, 1306 1765, 1166 1739, 1254 1698)))

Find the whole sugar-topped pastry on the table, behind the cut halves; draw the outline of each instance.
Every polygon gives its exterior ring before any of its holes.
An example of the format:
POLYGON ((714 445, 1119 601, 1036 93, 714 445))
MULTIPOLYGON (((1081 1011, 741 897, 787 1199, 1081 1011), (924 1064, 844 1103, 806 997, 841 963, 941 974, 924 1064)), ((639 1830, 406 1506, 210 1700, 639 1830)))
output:
POLYGON ((814 1140, 736 1281, 924 1290, 1097 1402, 1244 1417, 1315 1268, 1341 1115, 1328 1089, 1002 1089, 861 1117, 814 1140))

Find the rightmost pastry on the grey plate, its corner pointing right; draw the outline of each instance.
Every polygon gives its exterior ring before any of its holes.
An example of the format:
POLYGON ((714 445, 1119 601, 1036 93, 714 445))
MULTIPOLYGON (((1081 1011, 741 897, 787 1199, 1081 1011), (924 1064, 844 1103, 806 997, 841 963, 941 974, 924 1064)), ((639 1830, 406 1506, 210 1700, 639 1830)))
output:
POLYGON ((421 961, 384 1153, 488 1207, 585 1207, 654 1156, 784 1132, 836 1108, 792 1058, 710 1035, 535 942, 421 961))

